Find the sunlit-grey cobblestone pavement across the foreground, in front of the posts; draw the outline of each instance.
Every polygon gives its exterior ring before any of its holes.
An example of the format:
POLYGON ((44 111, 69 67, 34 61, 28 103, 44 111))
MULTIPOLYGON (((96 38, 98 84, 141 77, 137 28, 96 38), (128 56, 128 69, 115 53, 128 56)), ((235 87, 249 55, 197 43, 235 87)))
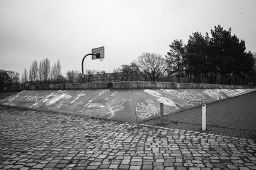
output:
POLYGON ((256 169, 256 143, 0 106, 0 169, 256 169))

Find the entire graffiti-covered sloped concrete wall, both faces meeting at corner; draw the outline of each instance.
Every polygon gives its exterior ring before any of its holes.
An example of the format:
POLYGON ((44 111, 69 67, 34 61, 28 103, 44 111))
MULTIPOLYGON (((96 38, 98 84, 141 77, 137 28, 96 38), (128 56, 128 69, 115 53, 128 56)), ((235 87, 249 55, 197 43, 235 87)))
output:
POLYGON ((24 90, 0 104, 124 122, 143 122, 256 89, 98 89, 24 90))

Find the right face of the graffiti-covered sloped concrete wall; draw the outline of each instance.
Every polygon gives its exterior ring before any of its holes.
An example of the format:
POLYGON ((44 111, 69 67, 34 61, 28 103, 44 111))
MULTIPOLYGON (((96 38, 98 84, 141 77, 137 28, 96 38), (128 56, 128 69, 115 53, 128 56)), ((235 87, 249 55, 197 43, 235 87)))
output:
POLYGON ((230 97, 241 96, 256 89, 137 89, 134 106, 138 122, 159 117, 159 104, 164 104, 164 115, 188 110, 230 97))

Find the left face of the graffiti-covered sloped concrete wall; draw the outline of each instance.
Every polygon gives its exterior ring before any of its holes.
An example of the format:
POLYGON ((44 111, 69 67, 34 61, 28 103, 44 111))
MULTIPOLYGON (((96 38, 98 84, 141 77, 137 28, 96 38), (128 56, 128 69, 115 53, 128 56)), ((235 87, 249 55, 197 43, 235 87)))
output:
POLYGON ((130 90, 24 90, 0 104, 136 122, 130 90))

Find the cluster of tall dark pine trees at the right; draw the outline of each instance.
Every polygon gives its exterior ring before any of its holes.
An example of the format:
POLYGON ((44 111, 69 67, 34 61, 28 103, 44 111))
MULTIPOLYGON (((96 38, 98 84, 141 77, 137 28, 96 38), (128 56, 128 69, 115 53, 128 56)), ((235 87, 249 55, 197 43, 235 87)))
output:
MULTIPOLYGON (((177 73, 178 81, 185 73, 193 83, 235 83, 241 84, 241 78, 255 78, 255 59, 252 53, 245 52, 245 42, 232 35, 220 25, 202 35, 193 32, 188 44, 175 39, 167 53, 168 74, 177 73), (234 82, 232 82, 234 77, 234 82)), ((254 80, 255 81, 255 80, 254 80)))

